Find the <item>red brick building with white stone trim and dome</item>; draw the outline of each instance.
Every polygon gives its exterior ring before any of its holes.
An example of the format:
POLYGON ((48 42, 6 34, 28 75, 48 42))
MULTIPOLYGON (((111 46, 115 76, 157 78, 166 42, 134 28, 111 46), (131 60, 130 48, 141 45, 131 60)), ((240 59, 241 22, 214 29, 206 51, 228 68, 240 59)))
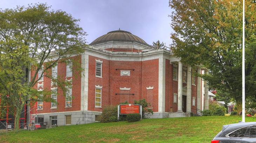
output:
POLYGON ((72 66, 65 62, 52 69, 52 74, 72 80, 67 97, 46 77, 34 87, 56 92, 51 96, 57 103, 37 103, 37 116, 49 125, 94 122, 105 105, 140 99, 146 99, 154 111, 149 118, 190 116, 208 108, 208 92, 204 95, 208 86, 193 74, 208 71, 191 69, 169 50, 151 47, 123 30, 108 32, 84 49, 84 53, 72 57, 81 62, 81 77, 75 76, 72 66))

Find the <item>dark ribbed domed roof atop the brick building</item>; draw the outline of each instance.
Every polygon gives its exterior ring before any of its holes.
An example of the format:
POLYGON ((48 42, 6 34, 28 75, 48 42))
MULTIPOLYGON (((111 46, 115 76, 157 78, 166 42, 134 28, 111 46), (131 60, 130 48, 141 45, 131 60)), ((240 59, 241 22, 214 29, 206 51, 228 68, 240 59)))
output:
POLYGON ((100 36, 99 38, 95 39, 89 45, 104 43, 104 42, 108 42, 108 41, 138 42, 138 43, 141 43, 144 45, 148 45, 140 37, 133 35, 132 33, 128 32, 128 31, 124 31, 124 30, 120 30, 120 29, 115 30, 115 31, 110 31, 107 34, 100 36))

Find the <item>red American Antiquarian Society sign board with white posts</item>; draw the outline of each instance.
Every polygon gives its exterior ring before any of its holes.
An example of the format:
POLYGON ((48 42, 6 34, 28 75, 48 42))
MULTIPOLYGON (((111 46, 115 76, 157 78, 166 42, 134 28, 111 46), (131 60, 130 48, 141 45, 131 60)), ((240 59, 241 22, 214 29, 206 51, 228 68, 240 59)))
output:
POLYGON ((134 114, 138 113, 141 115, 142 119, 142 106, 141 105, 133 105, 133 104, 128 104, 128 105, 119 105, 117 106, 117 120, 119 120, 119 115, 120 114, 134 114))

